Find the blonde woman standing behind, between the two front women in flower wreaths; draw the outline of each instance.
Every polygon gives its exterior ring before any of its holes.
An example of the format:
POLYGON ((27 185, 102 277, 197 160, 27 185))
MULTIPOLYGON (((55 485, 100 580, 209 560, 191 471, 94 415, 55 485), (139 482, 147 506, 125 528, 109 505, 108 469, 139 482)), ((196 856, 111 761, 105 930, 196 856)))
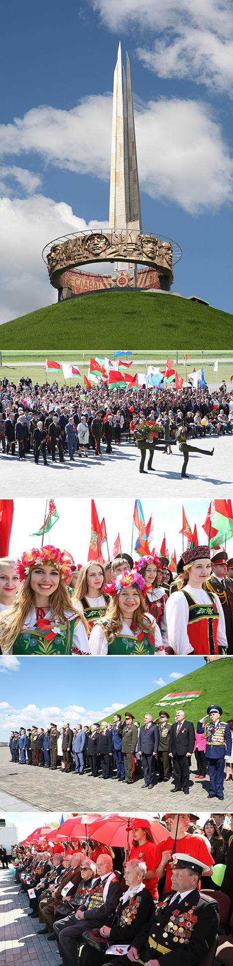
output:
POLYGON ((89 560, 81 567, 72 601, 77 610, 84 613, 90 630, 109 604, 109 596, 103 593, 104 582, 105 573, 101 563, 89 560))

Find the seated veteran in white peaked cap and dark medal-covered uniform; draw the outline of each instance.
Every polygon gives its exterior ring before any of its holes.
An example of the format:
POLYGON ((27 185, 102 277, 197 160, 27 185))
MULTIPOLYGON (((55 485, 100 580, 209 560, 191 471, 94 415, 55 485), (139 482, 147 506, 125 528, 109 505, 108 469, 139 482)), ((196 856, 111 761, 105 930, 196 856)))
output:
MULTIPOLYGON (((190 855, 173 855, 172 892, 158 902, 156 913, 142 930, 128 952, 120 957, 123 966, 138 960, 147 966, 160 966, 168 955, 169 966, 197 966, 211 949, 220 925, 219 903, 198 890, 203 863, 190 855)), ((118 958, 108 956, 109 966, 118 958)))

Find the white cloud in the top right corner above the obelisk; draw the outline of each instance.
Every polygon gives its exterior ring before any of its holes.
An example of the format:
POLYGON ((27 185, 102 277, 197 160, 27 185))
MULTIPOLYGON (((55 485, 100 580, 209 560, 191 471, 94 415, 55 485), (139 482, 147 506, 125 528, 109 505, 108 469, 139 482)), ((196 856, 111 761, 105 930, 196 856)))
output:
POLYGON ((91 0, 110 30, 137 25, 150 45, 138 47, 145 67, 161 77, 188 77, 232 91, 231 0, 91 0))

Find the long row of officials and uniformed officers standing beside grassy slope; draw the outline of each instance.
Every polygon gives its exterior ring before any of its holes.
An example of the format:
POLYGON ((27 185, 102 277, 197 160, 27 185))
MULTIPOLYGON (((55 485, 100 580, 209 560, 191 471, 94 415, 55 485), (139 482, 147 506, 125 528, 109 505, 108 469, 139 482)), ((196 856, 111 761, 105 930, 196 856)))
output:
POLYGON ((233 720, 221 722, 220 705, 210 705, 207 715, 194 725, 177 709, 174 723, 168 711, 160 711, 153 720, 149 713, 140 725, 131 711, 116 712, 113 725, 95 722, 76 725, 66 722, 61 728, 51 722, 48 727, 21 727, 12 731, 10 751, 13 763, 47 768, 60 768, 65 773, 89 775, 132 784, 143 778, 142 788, 153 789, 161 781, 173 778, 171 793, 189 795, 192 754, 196 761, 196 778, 210 778, 208 798, 223 800, 223 782, 233 779, 233 720), (210 721, 209 721, 210 718, 210 721), (226 776, 224 779, 224 769, 226 776), (232 771, 232 776, 231 776, 232 771))

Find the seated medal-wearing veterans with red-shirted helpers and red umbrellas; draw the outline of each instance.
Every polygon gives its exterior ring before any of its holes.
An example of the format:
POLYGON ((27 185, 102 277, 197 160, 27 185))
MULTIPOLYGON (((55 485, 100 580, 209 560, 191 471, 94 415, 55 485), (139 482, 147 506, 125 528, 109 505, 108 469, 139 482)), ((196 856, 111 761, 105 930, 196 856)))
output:
MULTIPOLYGON (((221 893, 230 896, 220 929, 221 962, 221 948, 232 949, 233 815, 228 829, 224 815, 211 814, 204 825, 188 813, 167 812, 152 823, 134 817, 128 838, 126 824, 117 848, 71 833, 68 841, 64 835, 49 842, 48 834, 38 846, 25 840, 13 849, 15 882, 29 896, 28 916, 39 921, 38 934, 57 944, 63 966, 116 966, 119 955, 124 966, 137 959, 151 966, 165 953, 170 966, 197 964, 213 944, 217 949, 221 893), (219 863, 221 885, 206 895, 219 863)), ((97 834, 98 823, 92 827, 97 834)))

